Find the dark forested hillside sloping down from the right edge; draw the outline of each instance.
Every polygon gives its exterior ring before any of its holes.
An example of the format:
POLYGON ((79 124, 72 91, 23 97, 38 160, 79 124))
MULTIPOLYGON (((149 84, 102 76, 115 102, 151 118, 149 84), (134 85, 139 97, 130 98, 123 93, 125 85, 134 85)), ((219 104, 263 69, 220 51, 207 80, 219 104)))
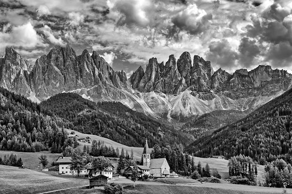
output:
POLYGON ((186 150, 198 157, 243 154, 264 164, 284 159, 292 162, 292 89, 245 118, 199 138, 186 150))

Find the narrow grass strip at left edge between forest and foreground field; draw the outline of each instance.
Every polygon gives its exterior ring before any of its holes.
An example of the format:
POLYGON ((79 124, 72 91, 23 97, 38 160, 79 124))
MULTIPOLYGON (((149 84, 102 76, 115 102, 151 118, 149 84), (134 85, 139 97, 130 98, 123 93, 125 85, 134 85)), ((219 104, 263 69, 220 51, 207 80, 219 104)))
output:
POLYGON ((30 169, 35 169, 37 168, 39 164, 39 159, 38 157, 41 154, 44 154, 47 156, 47 159, 49 161, 48 166, 52 162, 56 162, 58 158, 61 156, 61 154, 51 154, 49 151, 42 151, 42 152, 15 152, 15 151, 0 151, 0 157, 4 157, 4 155, 11 155, 11 154, 16 154, 17 158, 21 158, 23 164, 25 165, 26 168, 30 169))

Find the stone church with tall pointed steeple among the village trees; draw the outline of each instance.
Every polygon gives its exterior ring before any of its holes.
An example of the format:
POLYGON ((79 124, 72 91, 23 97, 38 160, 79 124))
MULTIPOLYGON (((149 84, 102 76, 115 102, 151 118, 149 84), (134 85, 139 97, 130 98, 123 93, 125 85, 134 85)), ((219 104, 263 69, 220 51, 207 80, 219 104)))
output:
POLYGON ((143 166, 150 168, 151 177, 169 177, 170 167, 166 158, 151 159, 151 150, 148 147, 147 139, 145 140, 145 146, 142 154, 143 166))

